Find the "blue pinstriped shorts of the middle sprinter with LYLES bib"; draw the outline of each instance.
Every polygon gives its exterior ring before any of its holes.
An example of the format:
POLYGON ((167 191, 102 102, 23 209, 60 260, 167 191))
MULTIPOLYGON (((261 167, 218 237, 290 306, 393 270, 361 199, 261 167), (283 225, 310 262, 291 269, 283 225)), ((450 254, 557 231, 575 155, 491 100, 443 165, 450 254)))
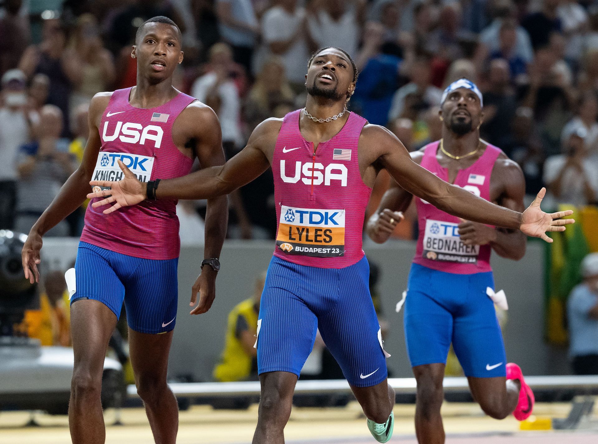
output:
POLYGON ((260 302, 258 373, 299 376, 319 329, 349 384, 384 381, 386 358, 369 277, 365 256, 344 268, 308 267, 274 256, 260 302))

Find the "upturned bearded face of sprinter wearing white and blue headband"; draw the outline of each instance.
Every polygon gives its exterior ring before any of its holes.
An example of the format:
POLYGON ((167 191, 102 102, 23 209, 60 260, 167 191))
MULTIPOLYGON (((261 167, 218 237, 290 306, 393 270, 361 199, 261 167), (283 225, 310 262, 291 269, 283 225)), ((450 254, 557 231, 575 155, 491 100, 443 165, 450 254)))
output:
POLYGON ((472 90, 457 88, 440 108, 444 125, 459 136, 476 130, 483 120, 480 98, 472 90))

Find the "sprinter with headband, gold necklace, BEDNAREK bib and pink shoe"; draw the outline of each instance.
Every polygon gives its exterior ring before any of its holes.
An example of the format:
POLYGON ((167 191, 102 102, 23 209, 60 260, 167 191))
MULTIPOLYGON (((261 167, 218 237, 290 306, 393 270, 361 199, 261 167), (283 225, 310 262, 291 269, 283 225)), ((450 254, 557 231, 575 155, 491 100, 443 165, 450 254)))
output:
MULTIPOLYGON (((524 209, 525 182, 519 166, 480 139, 482 95, 467 79, 444 91, 437 142, 411 153, 429 172, 487 201, 524 209)), ((368 221, 370 237, 382 243, 402 219, 413 194, 394 182, 368 221)), ((457 218, 416 197, 419 236, 405 296, 405 341, 417 380, 416 431, 420 444, 444 442, 440 415, 449 346, 469 378, 474 399, 493 418, 523 420, 532 413, 533 393, 521 369, 507 364, 492 296, 490 253, 521 259, 526 237, 457 218)), ((498 300, 498 299, 497 299, 498 300)), ((504 301, 506 304, 506 301, 504 301)))

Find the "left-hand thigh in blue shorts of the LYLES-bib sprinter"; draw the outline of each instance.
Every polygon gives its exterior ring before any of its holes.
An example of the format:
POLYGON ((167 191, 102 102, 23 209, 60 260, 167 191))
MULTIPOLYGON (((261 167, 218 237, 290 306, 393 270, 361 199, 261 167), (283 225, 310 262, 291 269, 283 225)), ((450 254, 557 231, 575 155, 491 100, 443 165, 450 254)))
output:
POLYGON ((318 320, 295 294, 303 287, 302 265, 274 257, 266 275, 258 317, 258 374, 290 372, 299 376, 312 351, 318 320))

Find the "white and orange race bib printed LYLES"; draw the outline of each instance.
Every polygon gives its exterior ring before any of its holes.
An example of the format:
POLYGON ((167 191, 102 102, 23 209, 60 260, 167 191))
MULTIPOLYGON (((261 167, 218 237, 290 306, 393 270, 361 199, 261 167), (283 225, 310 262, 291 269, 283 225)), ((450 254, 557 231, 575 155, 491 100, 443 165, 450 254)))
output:
POLYGON ((289 255, 344 256, 344 210, 282 206, 276 246, 289 255))

